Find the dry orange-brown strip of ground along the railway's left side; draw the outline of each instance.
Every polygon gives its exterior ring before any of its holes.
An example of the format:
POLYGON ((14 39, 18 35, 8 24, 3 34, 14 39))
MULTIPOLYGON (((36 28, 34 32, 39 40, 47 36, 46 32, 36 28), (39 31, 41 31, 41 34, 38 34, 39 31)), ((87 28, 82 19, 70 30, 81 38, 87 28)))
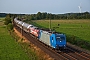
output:
MULTIPOLYGON (((14 28, 15 33, 22 39, 22 42, 25 42, 27 44, 30 44, 29 48, 32 48, 39 57, 43 58, 44 60, 54 60, 53 58, 51 58, 49 55, 47 55, 44 51, 42 51, 40 48, 38 48, 37 46, 35 46, 34 44, 32 44, 29 40, 27 40, 24 36, 21 35, 20 32, 18 32, 15 28, 14 28)), ((18 40, 18 42, 20 42, 20 40, 18 40)))

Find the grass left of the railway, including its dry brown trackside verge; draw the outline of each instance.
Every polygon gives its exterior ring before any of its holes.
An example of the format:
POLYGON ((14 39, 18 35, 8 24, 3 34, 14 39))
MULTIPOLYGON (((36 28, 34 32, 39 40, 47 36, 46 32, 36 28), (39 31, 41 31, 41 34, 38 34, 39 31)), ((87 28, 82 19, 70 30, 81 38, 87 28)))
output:
POLYGON ((0 18, 0 60, 44 60, 31 43, 23 40, 15 32, 10 33, 4 25, 4 18, 0 18))

